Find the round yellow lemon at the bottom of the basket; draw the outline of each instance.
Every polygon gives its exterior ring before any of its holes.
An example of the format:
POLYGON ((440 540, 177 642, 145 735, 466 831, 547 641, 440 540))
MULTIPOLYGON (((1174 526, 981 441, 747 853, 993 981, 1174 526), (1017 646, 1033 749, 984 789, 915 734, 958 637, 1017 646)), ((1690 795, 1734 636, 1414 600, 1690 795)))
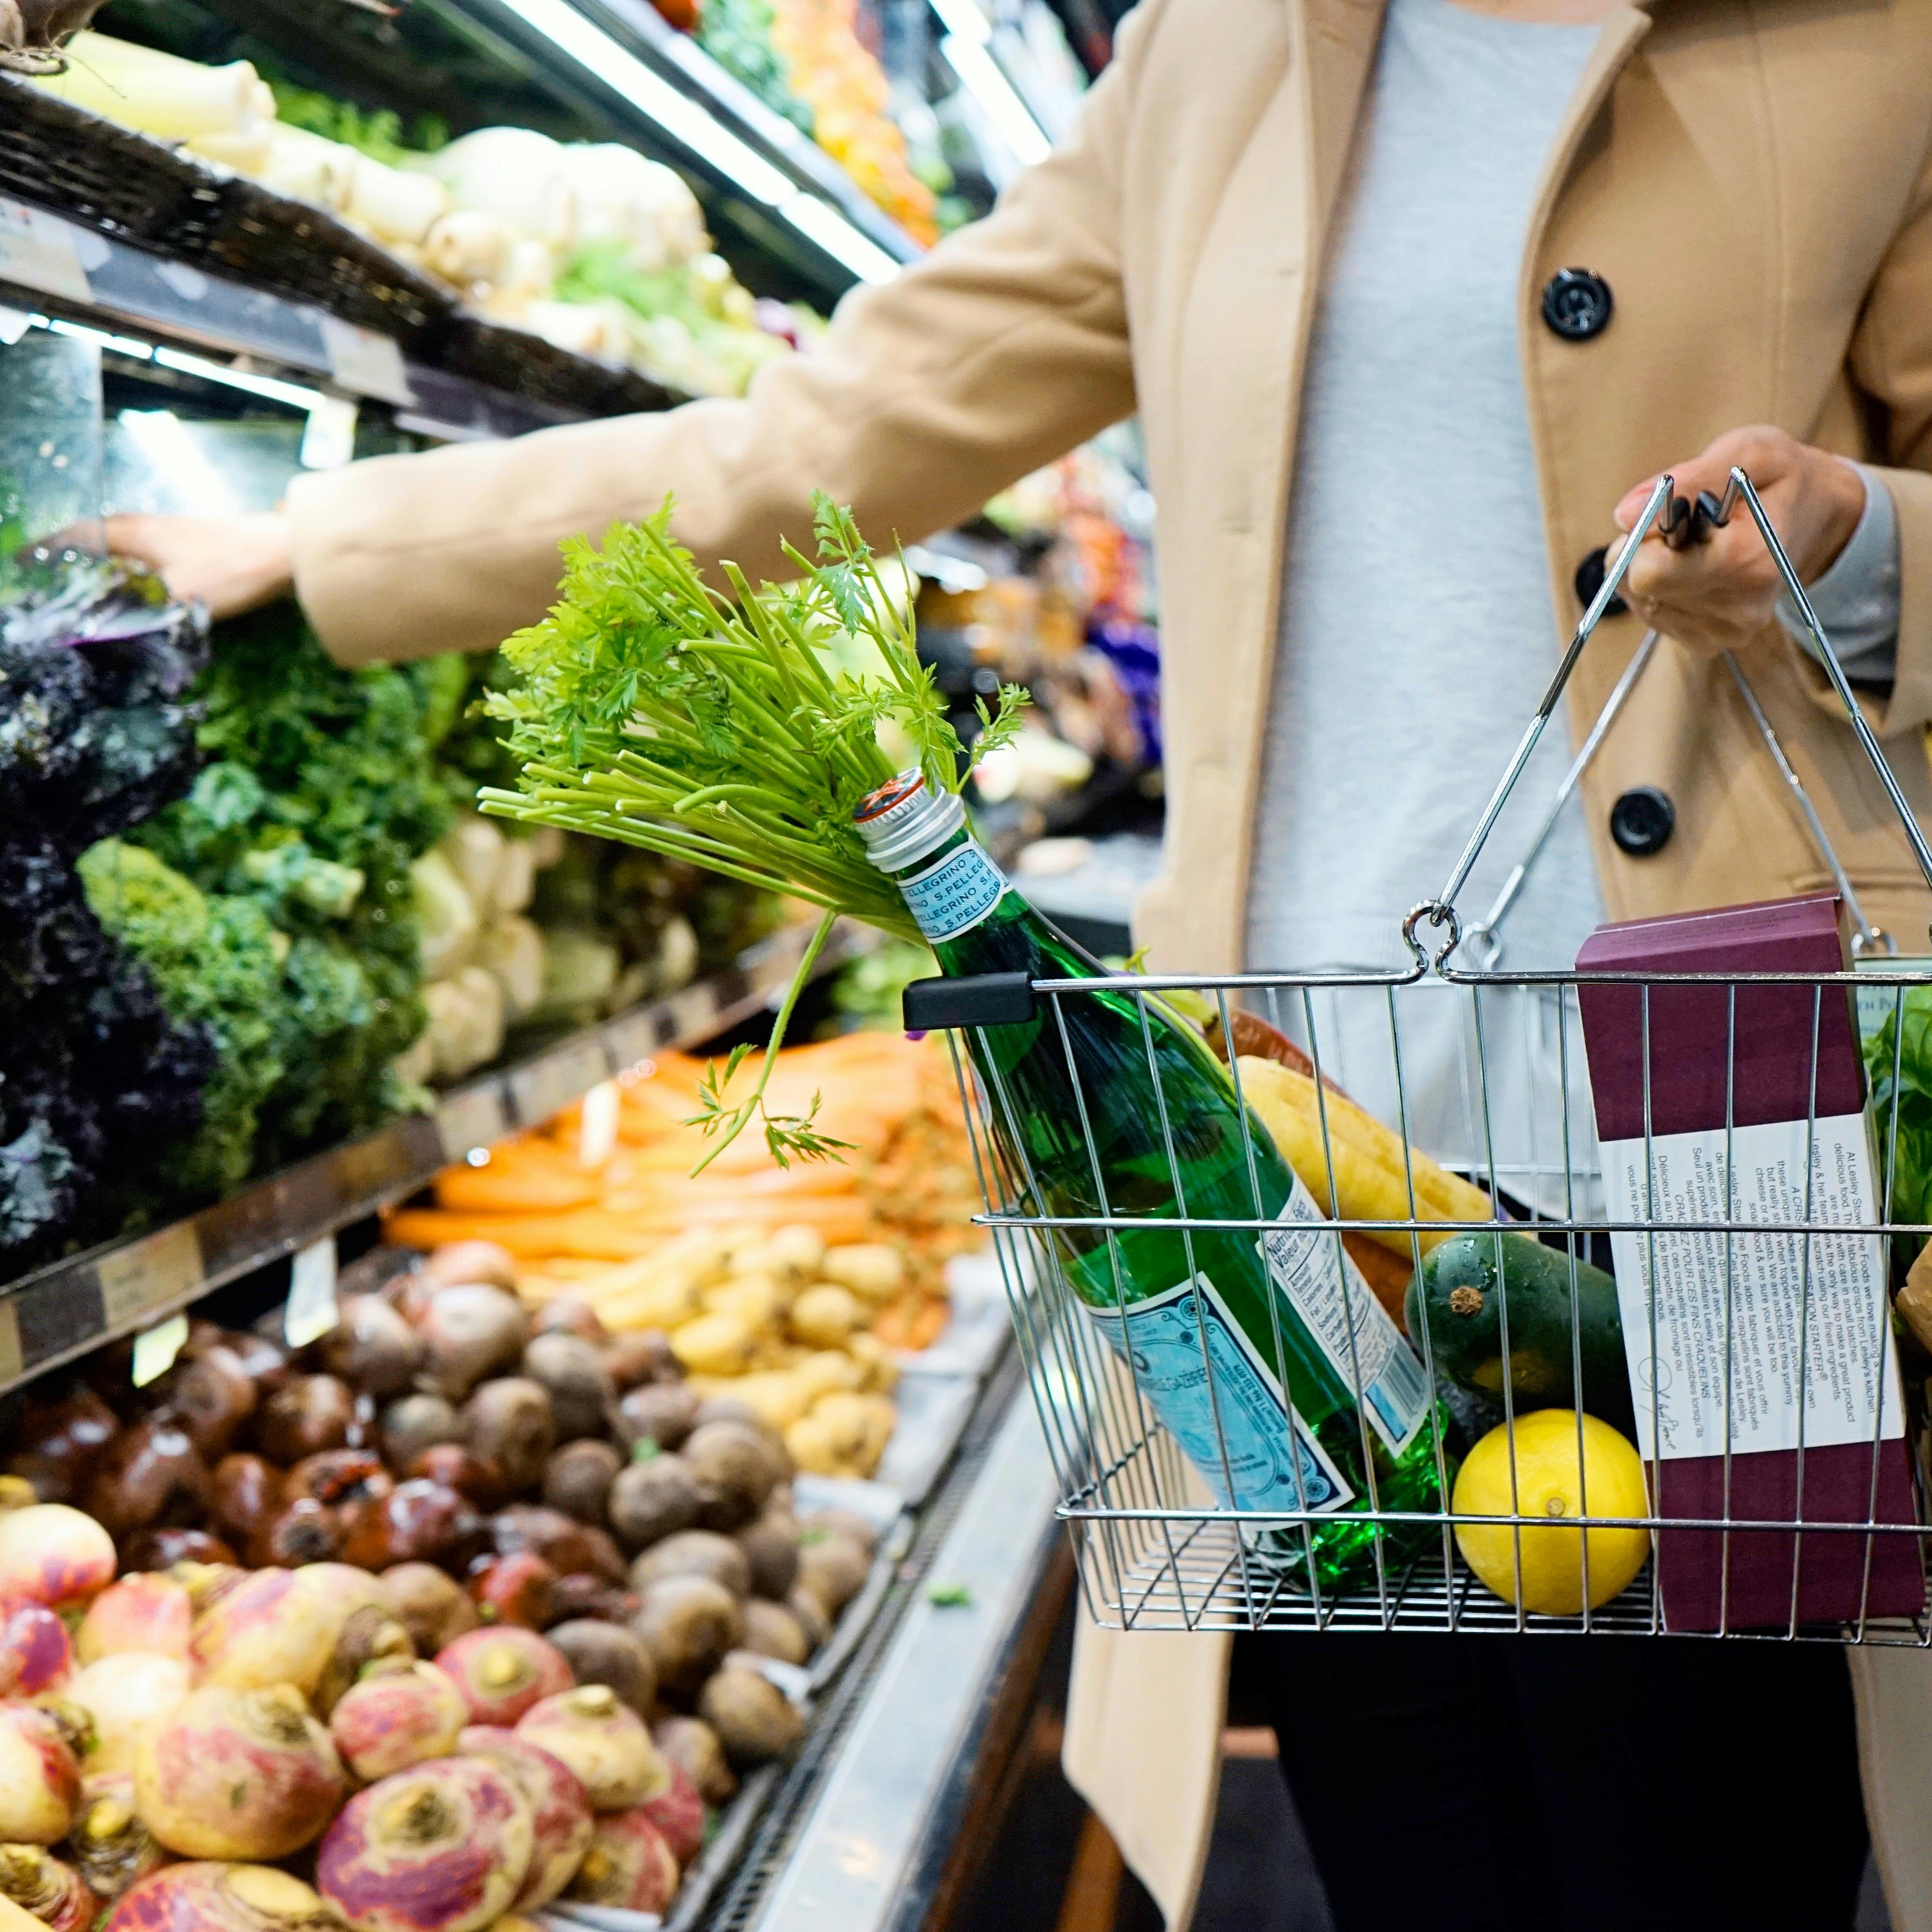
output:
MULTIPOLYGON (((1646 1517, 1644 1464, 1625 1435, 1596 1416, 1582 1418, 1577 1457, 1577 1410, 1538 1408, 1517 1416, 1517 1488, 1509 1488, 1509 1430, 1495 1428, 1463 1459, 1449 1509, 1459 1517, 1524 1517, 1524 1609, 1573 1617, 1582 1609, 1584 1532, 1563 1519, 1646 1517)), ((1607 1604, 1644 1567, 1650 1530, 1590 1530, 1590 1607, 1607 1604)), ((1464 1522, 1455 1532, 1463 1561, 1505 1602, 1517 1596, 1517 1530, 1507 1522, 1464 1522)))

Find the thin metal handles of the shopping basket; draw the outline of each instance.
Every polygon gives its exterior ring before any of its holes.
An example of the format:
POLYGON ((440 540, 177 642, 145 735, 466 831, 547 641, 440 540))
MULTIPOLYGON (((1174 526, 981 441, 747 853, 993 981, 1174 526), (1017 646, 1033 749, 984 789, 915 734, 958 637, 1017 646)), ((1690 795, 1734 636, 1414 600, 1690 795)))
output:
MULTIPOLYGON (((1924 875, 1926 887, 1932 889, 1932 842, 1926 840, 1924 831, 1913 817, 1911 802, 1905 790, 1899 786, 1891 765, 1886 761, 1886 753, 1878 744, 1878 734, 1866 723, 1864 713, 1859 709, 1859 701, 1853 696, 1851 682, 1845 678, 1845 670, 1837 661, 1837 651, 1832 647, 1832 639, 1824 634, 1824 626, 1818 622, 1818 612, 1812 609, 1810 599, 1804 595, 1804 585, 1799 582, 1797 570, 1791 566, 1791 558, 1785 547, 1777 541, 1777 531, 1772 529, 1772 520, 1764 510, 1764 502, 1758 497, 1756 487, 1750 477, 1737 466, 1731 469, 1731 479, 1725 485, 1723 500, 1716 502, 1700 498, 1696 506, 1685 502, 1677 497, 1675 479, 1665 473, 1658 477, 1652 485, 1650 497, 1644 498, 1642 516, 1638 516, 1629 537, 1625 537, 1609 568, 1604 572, 1604 582, 1598 585, 1596 595, 1590 599, 1590 607, 1584 611, 1571 636, 1569 647, 1563 651, 1563 659, 1555 668, 1555 676, 1549 680, 1549 688, 1544 692, 1536 705, 1536 713, 1517 742, 1517 750, 1511 753, 1509 765, 1503 777, 1497 781, 1495 790, 1490 794, 1488 806, 1484 806, 1482 819, 1478 821, 1474 833, 1470 833, 1468 842, 1463 846, 1461 856, 1449 871, 1443 889, 1435 898, 1426 898, 1416 906, 1408 918, 1403 920, 1403 941, 1414 954, 1420 968, 1441 972, 1455 949, 1463 941, 1463 927, 1455 914, 1455 896, 1463 891, 1468 875, 1482 856, 1484 844, 1488 844, 1490 833, 1495 829, 1495 821, 1509 802, 1509 794, 1517 788, 1517 781, 1522 777, 1530 755, 1536 752, 1542 740, 1544 726, 1555 713, 1557 701, 1563 697, 1563 688, 1569 684, 1571 672, 1577 668, 1577 659, 1582 655, 1582 647, 1590 641, 1596 626, 1604 620, 1604 612, 1609 609, 1609 601, 1617 595, 1623 580, 1631 572, 1631 564, 1636 560, 1636 547, 1650 535, 1652 527, 1658 526, 1660 518, 1663 522, 1663 541, 1673 549, 1681 549, 1687 541, 1694 541, 1700 524, 1725 524, 1729 522, 1733 506, 1743 500, 1745 508, 1750 510, 1750 520, 1758 526, 1758 535, 1764 537, 1766 549, 1772 553, 1772 562, 1777 566, 1777 576, 1783 580, 1785 595, 1791 599, 1799 616, 1804 620, 1804 628, 1818 647, 1818 661, 1824 665, 1826 676, 1832 680, 1832 690, 1837 692, 1839 703, 1845 707, 1845 715, 1851 721, 1851 728, 1864 748, 1864 755, 1872 763, 1872 771, 1878 773, 1878 782, 1884 784, 1886 796, 1891 800, 1893 811, 1899 815, 1899 823, 1905 827, 1905 838, 1913 848, 1913 856, 1918 860, 1918 871, 1924 875), (1435 949, 1434 956, 1428 947, 1418 937, 1422 925, 1430 925, 1439 931, 1441 945, 1435 949)), ((1725 653, 1729 657, 1729 653, 1725 653)), ((1735 659, 1731 670, 1739 680, 1747 703, 1752 715, 1764 726, 1762 707, 1756 703, 1756 694, 1745 682, 1735 659)), ((1627 680, 1629 682, 1629 680, 1627 680)), ((1627 682, 1619 686, 1619 694, 1627 690, 1627 682)), ((1770 736, 1768 726, 1766 736, 1770 736)), ((1596 738, 1600 732, 1592 734, 1590 750, 1596 748, 1596 738)), ((1779 748, 1774 744, 1774 755, 1779 755, 1779 748)), ((1830 840, 1824 835, 1824 825, 1818 821, 1816 811, 1812 811, 1808 798, 1804 798, 1803 784, 1797 782, 1795 773, 1789 771, 1785 759, 1779 755, 1779 769, 1785 771, 1787 781, 1799 794, 1799 802, 1804 808, 1806 819, 1810 821, 1812 833, 1818 838, 1826 860, 1837 877, 1839 885, 1845 887, 1849 881, 1843 875, 1843 867, 1837 864, 1832 852, 1830 840)), ((1573 773, 1577 767, 1573 767, 1573 773)), ((1563 792, 1567 796, 1567 788, 1563 792)), ((1561 798, 1557 800, 1561 804, 1561 798)), ((1861 927, 1864 927, 1862 914, 1859 916, 1861 927)), ((1884 935, 1878 935, 1884 939, 1884 935)))

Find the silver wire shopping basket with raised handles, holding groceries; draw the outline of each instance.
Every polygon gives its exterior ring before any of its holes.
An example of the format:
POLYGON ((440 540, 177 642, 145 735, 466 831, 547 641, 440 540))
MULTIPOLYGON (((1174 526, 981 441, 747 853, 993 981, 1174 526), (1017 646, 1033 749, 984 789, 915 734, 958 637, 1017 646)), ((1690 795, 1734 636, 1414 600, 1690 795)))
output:
MULTIPOLYGON (((1861 970, 1511 974, 1457 960, 1463 933, 1455 896, 1636 545, 1654 526, 1669 541, 1685 520, 1694 537, 1698 518, 1706 526, 1721 524, 1737 500, 1748 506, 1768 543, 1932 885, 1932 848, 1853 703, 1830 639, 1748 477, 1733 471, 1723 502, 1702 498, 1698 510, 1683 504, 1671 479, 1662 477, 1571 639, 1453 877, 1435 900, 1405 922, 1406 968, 1194 980, 1095 972, 1032 981, 1041 1037, 1057 1039, 1065 1057, 1074 1113, 1068 1128, 1078 1130, 1086 1150, 1097 1213, 1066 1211, 1066 1200, 1055 1202, 1034 1169, 1022 1101, 1001 1074, 1001 1053, 993 1051, 997 1028, 954 1028, 954 1063, 987 1204, 980 1219, 991 1229, 1001 1260, 1020 1354, 1059 1472, 1059 1515, 1072 1536, 1088 1611, 1097 1621, 1121 1629, 1188 1631, 1685 1633, 1932 1642, 1922 1586, 1922 1544, 1932 1534, 1924 1526, 1920 1463, 1926 1418, 1917 1393, 1911 1408, 1901 1397, 1889 1306, 1889 1283, 1932 1235, 1924 1223, 1893 1217, 1907 997, 1932 987, 1932 974, 1909 962, 1884 964, 1891 941, 1866 923, 1851 896, 1803 784, 1754 699, 1750 709, 1760 717, 1768 746, 1845 885, 1841 898, 1855 923, 1853 951, 1861 954, 1861 970), (1880 970, 1870 970, 1874 964, 1880 970), (1107 1134, 1095 1134, 1095 1113, 1117 1105, 1119 1097, 1095 1092, 1084 1078, 1074 1051, 1078 1018, 1070 1026, 1078 1003, 1099 995, 1130 1003, 1138 1014, 1151 1092, 1151 1119, 1142 1130, 1165 1155, 1173 1196, 1161 1213, 1109 1198, 1101 1151, 1107 1134), (1171 1024, 1180 1001, 1206 1016, 1209 1037, 1219 1034, 1227 1043, 1223 1057, 1240 1121, 1252 1213, 1188 1211, 1173 1117, 1179 1097, 1169 1094, 1171 1074, 1163 1078, 1155 1051, 1157 1034, 1171 1024), (1586 1018, 1611 1012, 1605 1001, 1615 1005, 1617 1024, 1629 1036, 1625 1047, 1634 1049, 1640 1066, 1640 1132, 1600 1142, 1602 1109, 1592 1107, 1590 1047, 1605 1036, 1602 1024, 1586 1024, 1586 1018), (1855 1003, 1872 1022, 1878 1049, 1861 1047, 1855 1003), (1698 1151, 1704 1171, 1685 1196, 1671 1192, 1679 1173, 1671 1161, 1681 1165, 1683 1150, 1665 1132, 1667 1121, 1660 1122, 1656 1107, 1673 1078, 1667 1055, 1683 1037, 1683 1012, 1692 1009, 1702 1014, 1706 1043, 1716 1037, 1714 1028, 1721 1028, 1723 1119, 1721 1128, 1706 1122, 1698 1151), (1242 1507, 1236 1457, 1229 1449, 1231 1405, 1238 1397, 1229 1387, 1225 1360, 1209 1347, 1209 1321, 1200 1312, 1194 1244, 1238 1235, 1264 1244, 1267 1254, 1265 1242, 1281 1227, 1281 1217, 1264 1209, 1258 1179, 1264 1126, 1242 1084, 1258 1074, 1250 1063, 1244 1076, 1236 1051, 1244 1016, 1267 1020, 1300 1049, 1312 1086, 1320 1157, 1314 1179, 1302 1179, 1318 1196, 1318 1211, 1302 1215, 1302 1231, 1333 1246, 1347 1314, 1347 1349, 1333 1360, 1349 1383, 1360 1435, 1360 1493, 1349 1497, 1341 1513, 1333 1501, 1316 1503, 1306 1493, 1298 1497, 1302 1507, 1242 1507), (1843 1072, 1847 1037, 1859 1066, 1857 1128, 1847 1126, 1849 1117, 1820 1111, 1822 1101, 1830 1103, 1833 1078, 1843 1072), (1880 1065, 1886 1047, 1889 1082, 1880 1065), (1750 1109, 1741 1107, 1748 1092, 1739 1084, 1743 1072, 1750 1088, 1766 1051, 1797 1066, 1795 1078, 1804 1082, 1803 1107, 1774 1122, 1781 1153, 1770 1157, 1766 1122, 1741 1121, 1741 1111, 1748 1115, 1750 1109), (1866 1066, 1880 1074, 1886 1097, 1878 1107, 1864 1103, 1866 1066), (1350 1101, 1397 1136, 1405 1200, 1395 1206, 1406 1211, 1345 1211, 1345 1132, 1356 1132, 1350 1101), (1482 1217, 1466 1209, 1463 1217, 1443 1215, 1428 1206, 1418 1192, 1418 1173, 1430 1165, 1424 1155, 1474 1182, 1486 1196, 1482 1217), (1712 1188, 1719 1200, 1712 1200, 1712 1188), (1150 1231, 1179 1235, 1194 1281, 1188 1293, 1196 1304, 1190 1331, 1198 1339, 1196 1399, 1208 1422, 1206 1434, 1190 1437, 1192 1461, 1155 1414, 1159 1391, 1148 1379, 1142 1350, 1126 1345, 1132 1302, 1122 1244, 1150 1231), (1505 1279, 1503 1293, 1493 1298, 1501 1372, 1490 1391, 1493 1399, 1459 1387, 1437 1360, 1441 1329, 1435 1320, 1410 1321, 1408 1341, 1426 1378, 1426 1420, 1416 1439, 1428 1443, 1437 1493, 1430 1499, 1434 1507, 1393 1507, 1383 1493, 1391 1464, 1378 1457, 1370 1432, 1376 1385, 1364 1385, 1358 1354, 1370 1329, 1362 1320, 1368 1310, 1354 1302, 1374 1291, 1350 1267, 1350 1242, 1372 1240, 1381 1254, 1401 1250, 1420 1279, 1428 1254, 1457 1236, 1468 1236, 1464 1254, 1493 1248, 1495 1273, 1505 1279), (1569 1379, 1555 1405, 1538 1399, 1536 1376, 1549 1364, 1530 1358, 1526 1321, 1517 1349, 1511 1347, 1505 1242, 1538 1244, 1557 1267, 1559 1300, 1567 1291, 1569 1362, 1559 1364, 1557 1379, 1561 1370, 1569 1379), (1101 1248, 1117 1296, 1111 1310, 1095 1306, 1092 1269, 1080 1275, 1084 1294, 1074 1285, 1074 1258, 1101 1248), (1592 1264, 1605 1269, 1613 1264, 1623 1337, 1636 1366, 1627 1391, 1631 1416, 1623 1426, 1634 1422, 1642 1453, 1640 1509, 1590 1507, 1592 1459, 1584 1453, 1580 1397, 1590 1385, 1582 1298, 1586 1279, 1596 1279, 1586 1277, 1592 1264), (1117 1323, 1111 1335, 1109 1323, 1117 1323), (1683 1374, 1681 1389, 1677 1374, 1683 1374), (1526 1466, 1517 1453, 1519 1430, 1536 1408, 1573 1405, 1573 1470, 1580 1495, 1577 1511, 1565 1513, 1563 1528, 1555 1530, 1549 1515, 1536 1513, 1534 1499, 1519 1486, 1519 1464, 1526 1466), (1719 1439, 1698 1447, 1698 1430, 1708 1434, 1712 1422, 1719 1439), (1453 1511, 1459 1459, 1492 1428, 1501 1430, 1507 1445, 1509 1507, 1453 1511), (1808 1432, 1814 1432, 1810 1439, 1808 1432), (1824 1441, 1826 1435, 1832 1439, 1824 1441), (1917 1453, 1909 1447, 1915 1439, 1917 1453), (1687 1455, 1685 1443, 1696 1453, 1687 1455), (1366 1524, 1370 1534, 1362 1561, 1337 1580, 1333 1567, 1318 1559, 1318 1532, 1331 1532, 1341 1517, 1366 1524), (1501 1586, 1507 1594, 1478 1580, 1461 1553, 1459 1530, 1482 1528, 1507 1532, 1501 1586), (1625 1588, 1609 1594, 1592 1586, 1592 1557, 1600 1544, 1594 1532, 1613 1530, 1644 1532, 1650 1555, 1625 1588), (1534 1546, 1524 1569, 1524 1538, 1540 1536, 1548 1548, 1553 1534, 1569 1538, 1559 1557, 1580 1584, 1573 1609, 1536 1607, 1534 1546), (1563 1557, 1563 1551, 1571 1553, 1563 1557)), ((1648 657, 1648 641, 1640 657, 1648 657)), ((1748 699, 1735 661, 1731 668, 1748 699)), ((1631 682, 1634 678, 1627 676, 1619 684, 1611 705, 1621 703, 1631 682)), ((1588 736, 1559 802, 1605 728, 1600 721, 1588 736)), ((1490 918, 1472 927, 1480 943, 1470 952, 1492 966, 1493 931, 1522 871, 1517 867, 1490 918)), ((1294 1165, 1300 1169, 1302 1161, 1294 1165)), ((1146 1287, 1140 1283, 1136 1294, 1146 1287)), ((1184 1291, 1186 1285, 1173 1293, 1184 1291)), ((1283 1343, 1287 1296, 1271 1294, 1267 1306, 1269 1366, 1294 1428, 1294 1374, 1283 1343)), ((1410 1287, 1410 1316, 1416 1306, 1410 1287)), ((1522 1308, 1519 1298, 1519 1316, 1522 1308)), ((1260 1343, 1256 1349, 1267 1354, 1260 1343)))

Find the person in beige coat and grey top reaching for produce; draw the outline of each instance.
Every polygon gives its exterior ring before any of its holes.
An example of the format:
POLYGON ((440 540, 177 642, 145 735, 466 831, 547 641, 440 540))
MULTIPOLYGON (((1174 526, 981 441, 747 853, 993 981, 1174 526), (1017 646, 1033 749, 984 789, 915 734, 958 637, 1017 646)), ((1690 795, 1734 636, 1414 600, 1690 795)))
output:
MULTIPOLYGON (((1833 622, 1893 769, 1932 806, 1928 145, 1932 0, 1142 0, 1066 147, 898 282, 852 294, 823 354, 769 367, 746 402, 384 458, 301 479, 286 516, 112 535, 216 609, 292 583, 348 663, 415 657, 533 618, 558 539, 667 489, 703 562, 779 574, 813 487, 910 539, 1138 413, 1169 792, 1138 933, 1167 970, 1308 966, 1273 956, 1293 920, 1264 918, 1327 889, 1320 840, 1281 837, 1314 823, 1296 784, 1320 769, 1331 796, 1401 794, 1416 844, 1441 835, 1435 800, 1461 835, 1497 726, 1461 782, 1468 740, 1432 757, 1432 723, 1463 682, 1488 680, 1490 711, 1534 692, 1578 572, 1665 466, 1694 493, 1743 462, 1820 597, 1845 566, 1833 622), (1395 346, 1379 365, 1378 332, 1395 346), (1358 634, 1329 636, 1349 611, 1358 634), (1362 719, 1350 781, 1331 753, 1362 719), (1410 796, 1418 773, 1461 788, 1410 796)), ((1698 551, 1644 547, 1636 611, 1573 678, 1573 734, 1644 622, 1667 641, 1584 777, 1551 931, 1826 883, 1719 665, 1735 647, 1866 914, 1907 949, 1924 933, 1932 896, 1776 591, 1743 520, 1698 551)), ((1358 852, 1403 844, 1385 800, 1350 810, 1374 835, 1358 852)), ((1538 1905, 1565 1926, 1849 1922, 1861 1839, 1832 1652, 1457 1640, 1488 1656, 1474 1665, 1397 1663, 1418 1654, 1387 1638, 1267 1642, 1345 1928, 1513 1926, 1538 1905), (1495 1662, 1520 1652, 1569 1662, 1526 1692, 1495 1662), (1406 1729, 1364 1748, 1350 1714, 1405 1671, 1410 1706, 1437 1689, 1509 1704, 1493 1762, 1432 1758, 1401 1698, 1378 1723, 1406 1729), (1650 1752, 1621 1787, 1580 1776, 1611 1739, 1650 1752), (1424 1822, 1445 1789, 1478 1799, 1449 1862, 1424 1822), (1698 1789, 1739 1804, 1673 1810, 1698 1789)), ((1171 1922, 1200 1880, 1225 1673, 1225 1638, 1082 1633, 1068 1772, 1171 1922)), ((1932 1683, 1917 1652, 1855 1652, 1853 1679, 1893 1922, 1920 1932, 1932 1683)))

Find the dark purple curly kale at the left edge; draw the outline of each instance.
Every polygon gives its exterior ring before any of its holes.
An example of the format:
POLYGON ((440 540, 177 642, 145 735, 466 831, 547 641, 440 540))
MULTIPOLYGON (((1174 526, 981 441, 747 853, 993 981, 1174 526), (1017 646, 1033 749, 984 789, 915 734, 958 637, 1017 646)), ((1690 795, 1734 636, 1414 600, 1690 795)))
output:
POLYGON ((197 611, 131 566, 39 558, 0 609, 0 1269, 114 1231, 120 1182, 191 1136, 213 1034, 172 1014, 75 862, 178 796, 197 611))

